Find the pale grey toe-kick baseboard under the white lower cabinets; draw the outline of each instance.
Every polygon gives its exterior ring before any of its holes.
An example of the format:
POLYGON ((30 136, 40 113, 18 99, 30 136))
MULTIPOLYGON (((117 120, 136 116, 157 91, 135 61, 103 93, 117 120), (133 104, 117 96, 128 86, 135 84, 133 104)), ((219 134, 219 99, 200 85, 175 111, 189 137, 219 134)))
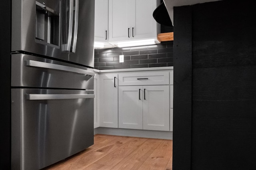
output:
POLYGON ((98 127, 94 128, 94 134, 109 134, 117 136, 133 136, 142 138, 158 138, 172 140, 172 132, 170 131, 98 127))

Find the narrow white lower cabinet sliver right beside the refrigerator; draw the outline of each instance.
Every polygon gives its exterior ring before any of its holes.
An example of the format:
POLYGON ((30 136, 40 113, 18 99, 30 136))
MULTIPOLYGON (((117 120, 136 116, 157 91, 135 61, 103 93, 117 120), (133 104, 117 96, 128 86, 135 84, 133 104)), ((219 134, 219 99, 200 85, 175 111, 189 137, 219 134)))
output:
POLYGON ((100 75, 95 74, 94 76, 94 128, 100 127, 100 75))

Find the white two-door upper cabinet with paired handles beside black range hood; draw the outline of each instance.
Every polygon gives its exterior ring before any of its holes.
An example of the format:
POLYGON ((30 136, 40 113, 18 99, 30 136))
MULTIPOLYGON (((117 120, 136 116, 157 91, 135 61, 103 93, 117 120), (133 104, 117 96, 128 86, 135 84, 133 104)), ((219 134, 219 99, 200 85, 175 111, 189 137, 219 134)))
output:
POLYGON ((156 0, 109 0, 109 42, 157 38, 156 0))

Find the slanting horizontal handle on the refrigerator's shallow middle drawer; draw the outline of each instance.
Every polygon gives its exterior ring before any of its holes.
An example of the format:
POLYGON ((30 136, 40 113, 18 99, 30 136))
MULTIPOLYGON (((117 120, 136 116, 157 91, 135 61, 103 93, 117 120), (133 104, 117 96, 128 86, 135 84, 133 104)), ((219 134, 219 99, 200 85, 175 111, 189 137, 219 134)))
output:
POLYGON ((45 63, 41 61, 34 61, 34 60, 27 60, 26 66, 32 66, 32 67, 41 67, 41 68, 47 68, 47 69, 55 69, 55 70, 62 70, 62 71, 68 71, 73 73, 79 73, 79 74, 86 74, 94 76, 95 73, 92 71, 84 70, 84 69, 78 69, 74 67, 69 67, 65 65, 59 65, 59 64, 52 64, 52 63, 45 63))

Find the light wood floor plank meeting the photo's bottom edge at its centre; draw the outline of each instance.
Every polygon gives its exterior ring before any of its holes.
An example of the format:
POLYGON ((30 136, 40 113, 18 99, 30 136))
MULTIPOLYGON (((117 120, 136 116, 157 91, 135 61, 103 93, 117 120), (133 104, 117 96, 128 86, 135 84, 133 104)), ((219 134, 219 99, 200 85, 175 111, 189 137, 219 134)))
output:
POLYGON ((159 142, 145 141, 138 149, 120 161, 112 170, 136 170, 154 152, 159 142))

